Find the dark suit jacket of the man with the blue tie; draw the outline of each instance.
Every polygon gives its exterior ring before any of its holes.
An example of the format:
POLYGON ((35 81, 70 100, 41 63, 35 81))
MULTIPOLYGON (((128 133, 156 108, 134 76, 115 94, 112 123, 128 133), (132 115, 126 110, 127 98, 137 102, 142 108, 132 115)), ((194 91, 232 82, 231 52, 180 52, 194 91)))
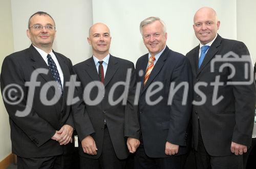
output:
MULTIPOLYGON (((210 72, 210 62, 216 55, 224 55, 232 51, 241 57, 249 55, 244 43, 223 39, 219 35, 208 49, 204 61, 198 70, 199 46, 187 53, 193 70, 194 85, 197 82, 206 82, 206 87, 200 87, 200 91, 206 96, 203 105, 194 105, 192 113, 194 147, 198 146, 198 117, 200 129, 207 152, 212 156, 227 156, 231 154, 231 142, 250 146, 253 128, 255 85, 227 85, 228 81, 245 81, 244 62, 216 62, 214 72, 210 72), (229 67, 222 72, 219 68, 224 63, 231 63, 236 69, 236 74, 229 79, 231 73, 229 67), (224 82, 219 86, 218 97, 224 97, 218 104, 212 105, 214 86, 210 82, 216 81, 216 77, 224 82)), ((247 62, 248 63, 248 62, 247 62)), ((252 70, 251 70, 252 72, 252 70)), ((194 92, 194 100, 201 101, 201 96, 194 92)))

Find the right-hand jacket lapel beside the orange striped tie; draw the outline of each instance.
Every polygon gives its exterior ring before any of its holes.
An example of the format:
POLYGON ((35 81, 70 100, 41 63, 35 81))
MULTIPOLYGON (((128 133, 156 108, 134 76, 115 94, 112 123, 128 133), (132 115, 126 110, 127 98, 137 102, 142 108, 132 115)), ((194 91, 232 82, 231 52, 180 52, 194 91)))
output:
MULTIPOLYGON (((146 90, 146 88, 148 86, 150 86, 151 82, 155 79, 157 74, 162 69, 168 53, 169 53, 169 48, 166 46, 165 50, 163 51, 163 53, 160 55, 159 59, 157 60, 156 65, 154 66, 153 70, 151 71, 150 76, 148 77, 148 79, 146 81, 146 85, 144 86, 141 94, 146 90)), ((144 78, 144 76, 143 76, 143 78, 144 78)))

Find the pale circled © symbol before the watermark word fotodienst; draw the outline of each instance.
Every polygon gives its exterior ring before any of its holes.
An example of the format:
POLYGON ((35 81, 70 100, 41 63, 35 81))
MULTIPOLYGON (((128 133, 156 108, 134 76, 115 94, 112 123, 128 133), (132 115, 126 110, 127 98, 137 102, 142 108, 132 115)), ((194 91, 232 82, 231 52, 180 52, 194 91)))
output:
POLYGON ((22 90, 22 87, 18 86, 17 84, 7 85, 3 90, 3 99, 6 103, 10 105, 19 104, 22 101, 23 97, 24 97, 24 92, 22 90), (20 98, 17 100, 18 96, 13 95, 12 93, 20 94, 20 98))

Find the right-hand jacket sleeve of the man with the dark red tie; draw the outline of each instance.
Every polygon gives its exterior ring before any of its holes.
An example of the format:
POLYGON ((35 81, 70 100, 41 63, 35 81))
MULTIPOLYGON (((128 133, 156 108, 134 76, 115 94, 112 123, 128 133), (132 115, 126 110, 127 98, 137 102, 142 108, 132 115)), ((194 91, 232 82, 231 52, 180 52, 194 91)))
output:
POLYGON ((127 103, 125 105, 124 115, 124 136, 139 139, 140 136, 140 125, 138 118, 138 106, 134 104, 135 91, 136 91, 136 73, 134 65, 131 68, 131 81, 129 86, 129 93, 127 97, 127 103))

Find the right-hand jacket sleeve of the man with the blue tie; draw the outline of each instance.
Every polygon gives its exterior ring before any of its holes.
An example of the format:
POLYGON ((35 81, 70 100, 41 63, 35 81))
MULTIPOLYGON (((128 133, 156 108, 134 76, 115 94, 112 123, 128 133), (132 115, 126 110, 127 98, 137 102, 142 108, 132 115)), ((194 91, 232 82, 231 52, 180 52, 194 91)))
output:
MULTIPOLYGON (((250 55, 247 47, 244 43, 238 42, 233 46, 234 53, 238 54, 239 57, 245 57, 250 60, 250 55)), ((236 73, 232 77, 231 81, 247 81, 245 79, 245 63, 246 62, 232 62, 236 68, 236 73)), ((248 63, 248 62, 247 62, 248 63)), ((252 65, 250 63, 250 65, 252 65)), ((253 72, 250 69, 248 72, 249 76, 253 72)), ((250 146, 251 145, 251 135, 253 129, 253 119, 254 119, 254 106, 255 106, 255 83, 254 79, 250 85, 232 85, 233 96, 235 99, 235 116, 236 125, 233 129, 232 142, 250 146)))

